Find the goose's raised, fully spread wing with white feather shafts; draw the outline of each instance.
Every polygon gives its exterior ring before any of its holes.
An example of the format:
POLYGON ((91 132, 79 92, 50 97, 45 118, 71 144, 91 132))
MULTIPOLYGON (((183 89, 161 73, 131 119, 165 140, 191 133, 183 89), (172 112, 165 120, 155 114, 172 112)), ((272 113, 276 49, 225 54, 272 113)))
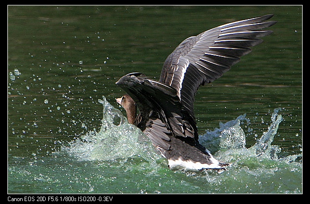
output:
POLYGON ((276 24, 265 15, 215 27, 184 40, 166 59, 159 81, 177 90, 184 107, 194 118, 193 102, 200 85, 221 77, 250 47, 262 42, 258 37, 272 33, 261 30, 276 24))

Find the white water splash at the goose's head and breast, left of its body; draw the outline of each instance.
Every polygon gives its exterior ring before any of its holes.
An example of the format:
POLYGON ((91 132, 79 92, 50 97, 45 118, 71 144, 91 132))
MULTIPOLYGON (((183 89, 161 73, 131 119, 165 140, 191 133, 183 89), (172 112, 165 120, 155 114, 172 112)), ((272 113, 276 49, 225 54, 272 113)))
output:
POLYGON ((78 160, 107 161, 139 157, 142 160, 154 161, 158 158, 142 131, 128 124, 122 112, 107 102, 104 96, 102 98, 98 100, 103 105, 99 132, 90 131, 62 150, 78 160))

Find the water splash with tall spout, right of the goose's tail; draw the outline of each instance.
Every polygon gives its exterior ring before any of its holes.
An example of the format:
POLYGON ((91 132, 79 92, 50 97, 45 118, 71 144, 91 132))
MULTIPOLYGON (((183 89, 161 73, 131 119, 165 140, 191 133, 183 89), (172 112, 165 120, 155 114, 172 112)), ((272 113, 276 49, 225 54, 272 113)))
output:
MULTIPOLYGON (((212 153, 223 150, 225 153, 220 156, 224 161, 236 161, 236 158, 240 158, 240 155, 251 156, 257 159, 279 159, 277 154, 280 153, 281 148, 271 143, 277 134, 279 124, 283 121, 282 116, 279 114, 280 109, 274 109, 268 130, 263 132, 256 144, 248 149, 246 148, 246 134, 243 128, 241 128, 241 125, 244 123, 250 124, 246 114, 240 115, 235 120, 228 121, 227 123, 219 123, 219 128, 215 128, 213 131, 208 130, 206 134, 200 135, 199 142, 212 153), (232 155, 236 158, 233 158, 232 155)), ((298 154, 287 156, 282 158, 282 160, 292 162, 300 158, 302 158, 302 155, 298 154)))

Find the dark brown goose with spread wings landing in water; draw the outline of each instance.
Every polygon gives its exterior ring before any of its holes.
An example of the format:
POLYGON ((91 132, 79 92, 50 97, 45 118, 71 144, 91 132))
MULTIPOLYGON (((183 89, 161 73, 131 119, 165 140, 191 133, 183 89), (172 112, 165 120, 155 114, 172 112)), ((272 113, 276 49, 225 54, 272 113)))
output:
POLYGON ((198 141, 194 98, 198 88, 213 82, 248 54, 273 14, 236 21, 186 38, 166 58, 158 81, 135 72, 116 85, 126 94, 116 101, 125 109, 128 123, 140 128, 155 150, 168 160, 170 170, 223 172, 230 163, 219 161, 198 141))

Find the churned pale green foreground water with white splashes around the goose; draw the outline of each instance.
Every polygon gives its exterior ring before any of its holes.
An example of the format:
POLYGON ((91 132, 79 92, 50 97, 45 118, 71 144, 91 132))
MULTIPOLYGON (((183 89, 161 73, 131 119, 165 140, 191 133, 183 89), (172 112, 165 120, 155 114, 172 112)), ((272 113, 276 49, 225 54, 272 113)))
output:
POLYGON ((201 135, 199 141, 208 148, 213 147, 214 156, 232 163, 232 166, 222 174, 214 171, 193 173, 170 171, 166 160, 155 153, 152 144, 141 141, 141 130, 128 124, 120 110, 104 97, 99 102, 103 105, 103 116, 98 132, 80 136, 53 157, 31 160, 31 165, 24 158, 14 162, 8 168, 11 180, 8 191, 302 193, 302 163, 296 162, 302 155, 277 159, 272 153, 274 146, 271 143, 282 121, 277 110, 272 114, 268 131, 262 132, 260 140, 251 148, 245 147, 245 137, 249 132, 241 128, 249 124, 246 114, 220 123, 219 128, 201 135), (46 189, 46 186, 50 187, 46 189))

